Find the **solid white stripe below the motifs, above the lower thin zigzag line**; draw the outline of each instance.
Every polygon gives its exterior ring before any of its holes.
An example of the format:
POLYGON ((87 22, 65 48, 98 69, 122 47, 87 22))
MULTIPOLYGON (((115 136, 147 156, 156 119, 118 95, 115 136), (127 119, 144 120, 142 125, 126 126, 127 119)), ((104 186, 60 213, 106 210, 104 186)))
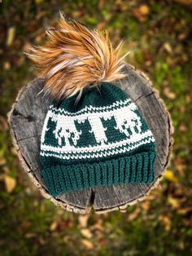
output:
POLYGON ((68 146, 68 147, 63 146, 62 148, 60 148, 60 147, 54 147, 46 144, 41 144, 41 150, 64 153, 64 154, 68 154, 68 153, 76 154, 76 153, 100 152, 100 151, 103 152, 103 151, 110 150, 112 148, 120 148, 130 143, 138 143, 142 139, 146 139, 148 137, 151 138, 151 141, 154 141, 151 130, 147 130, 142 134, 133 135, 129 139, 124 139, 116 143, 107 143, 107 144, 104 143, 103 145, 97 145, 97 146, 89 145, 89 147, 81 147, 81 148, 77 148, 74 146, 68 146))

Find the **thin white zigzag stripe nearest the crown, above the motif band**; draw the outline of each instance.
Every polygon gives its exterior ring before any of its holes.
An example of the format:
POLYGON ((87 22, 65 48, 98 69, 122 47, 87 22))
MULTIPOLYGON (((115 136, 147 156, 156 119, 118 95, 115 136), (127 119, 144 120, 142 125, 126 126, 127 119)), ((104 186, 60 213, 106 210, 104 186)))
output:
MULTIPOLYGON (((113 104, 109 105, 109 106, 103 106, 103 107, 93 107, 92 105, 89 106, 85 106, 85 108, 82 108, 79 111, 76 111, 75 113, 71 113, 68 112, 67 110, 65 110, 64 108, 56 108, 54 107, 54 105, 50 105, 50 110, 52 110, 53 113, 61 113, 61 114, 65 114, 68 116, 76 116, 79 115, 81 113, 88 113, 91 111, 95 111, 95 112, 99 112, 99 111, 108 111, 111 109, 114 109, 116 107, 124 107, 125 105, 128 105, 131 103, 131 99, 125 99, 125 100, 120 100, 120 101, 116 101, 113 104)), ((132 103, 132 106, 135 105, 132 103)), ((134 108, 137 108, 136 106, 133 106, 134 108)))

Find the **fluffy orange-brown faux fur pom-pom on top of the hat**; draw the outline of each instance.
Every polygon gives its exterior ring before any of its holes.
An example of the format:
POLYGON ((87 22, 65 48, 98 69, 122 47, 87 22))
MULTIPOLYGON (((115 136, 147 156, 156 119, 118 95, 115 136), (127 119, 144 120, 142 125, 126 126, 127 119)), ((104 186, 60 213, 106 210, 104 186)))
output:
POLYGON ((55 99, 64 99, 78 92, 78 99, 86 86, 113 82, 123 78, 124 57, 120 44, 114 50, 108 33, 89 29, 76 20, 67 20, 60 13, 55 28, 46 30, 44 46, 29 49, 28 57, 46 79, 44 89, 55 99))

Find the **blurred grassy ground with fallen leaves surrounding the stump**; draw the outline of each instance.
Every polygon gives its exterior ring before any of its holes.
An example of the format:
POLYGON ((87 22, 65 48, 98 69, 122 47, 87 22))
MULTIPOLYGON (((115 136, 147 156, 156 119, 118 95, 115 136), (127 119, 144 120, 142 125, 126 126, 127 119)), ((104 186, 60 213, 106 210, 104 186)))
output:
POLYGON ((0 3, 0 255, 190 255, 192 239, 191 1, 14 1, 0 3), (126 61, 151 77, 175 127, 158 188, 127 213, 79 216, 44 199, 20 167, 7 112, 36 77, 24 51, 41 45, 59 10, 108 29, 126 61))

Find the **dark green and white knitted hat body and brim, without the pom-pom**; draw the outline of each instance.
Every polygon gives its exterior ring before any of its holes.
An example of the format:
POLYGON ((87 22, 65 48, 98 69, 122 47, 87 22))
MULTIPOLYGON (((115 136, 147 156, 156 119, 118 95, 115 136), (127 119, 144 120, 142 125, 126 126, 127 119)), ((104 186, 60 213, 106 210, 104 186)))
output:
POLYGON ((51 104, 41 134, 42 175, 52 196, 155 179, 155 139, 118 86, 103 82, 51 104))

